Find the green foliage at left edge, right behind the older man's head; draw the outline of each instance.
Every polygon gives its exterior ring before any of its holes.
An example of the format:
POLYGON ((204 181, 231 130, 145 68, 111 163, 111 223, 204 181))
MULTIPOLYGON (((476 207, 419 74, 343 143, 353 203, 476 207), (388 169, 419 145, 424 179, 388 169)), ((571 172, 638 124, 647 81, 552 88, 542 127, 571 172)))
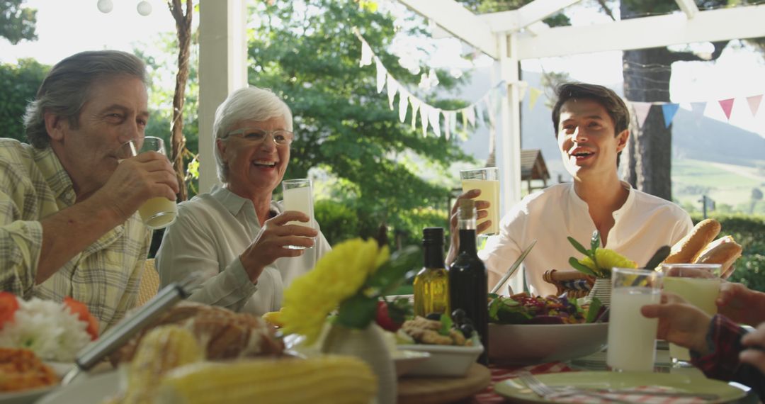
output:
POLYGON ((24 110, 34 99, 50 66, 33 59, 18 60, 18 64, 0 64, 0 128, 3 136, 25 142, 24 110))

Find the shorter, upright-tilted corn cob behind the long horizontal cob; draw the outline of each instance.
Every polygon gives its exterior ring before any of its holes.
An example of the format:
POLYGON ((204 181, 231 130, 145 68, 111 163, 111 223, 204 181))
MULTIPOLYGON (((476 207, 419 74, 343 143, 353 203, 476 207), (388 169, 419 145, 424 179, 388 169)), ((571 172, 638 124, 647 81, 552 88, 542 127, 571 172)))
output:
POLYGON ((191 331, 177 325, 156 327, 142 338, 129 364, 122 404, 150 403, 164 373, 203 359, 202 347, 191 331))

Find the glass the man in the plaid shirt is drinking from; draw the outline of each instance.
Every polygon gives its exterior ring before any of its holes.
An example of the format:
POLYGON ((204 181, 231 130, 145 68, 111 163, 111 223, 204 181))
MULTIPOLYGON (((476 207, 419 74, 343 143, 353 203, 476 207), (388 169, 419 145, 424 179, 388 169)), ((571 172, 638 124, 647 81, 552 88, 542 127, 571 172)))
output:
MULTIPOLYGON (((146 136, 143 140, 131 140, 122 145, 120 151, 120 157, 124 158, 135 157, 145 151, 157 151, 161 155, 168 155, 164 151, 164 140, 154 136, 146 136)), ((138 208, 141 219, 151 230, 164 229, 164 227, 170 226, 175 221, 177 212, 175 200, 166 197, 153 197, 138 208)))

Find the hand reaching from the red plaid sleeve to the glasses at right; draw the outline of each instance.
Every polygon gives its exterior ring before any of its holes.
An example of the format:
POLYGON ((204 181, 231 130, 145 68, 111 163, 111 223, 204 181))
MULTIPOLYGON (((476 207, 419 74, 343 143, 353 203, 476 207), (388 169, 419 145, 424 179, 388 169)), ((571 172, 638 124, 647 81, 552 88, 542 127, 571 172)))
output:
POLYGON ((678 295, 663 292, 661 304, 645 305, 640 308, 640 312, 646 318, 659 319, 656 338, 668 340, 702 355, 708 353, 706 334, 711 316, 678 295))

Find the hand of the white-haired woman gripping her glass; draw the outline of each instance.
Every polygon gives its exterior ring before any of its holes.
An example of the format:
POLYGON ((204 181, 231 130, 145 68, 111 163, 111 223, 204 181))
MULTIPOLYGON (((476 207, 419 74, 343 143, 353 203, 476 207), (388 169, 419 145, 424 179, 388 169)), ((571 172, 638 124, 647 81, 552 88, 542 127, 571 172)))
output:
POLYGON ((255 241, 242 252, 239 259, 252 282, 257 282, 265 266, 282 257, 303 255, 304 249, 288 249, 285 246, 314 246, 309 237, 318 236, 319 232, 307 226, 286 224, 291 221, 308 222, 305 213, 287 210, 266 220, 255 241))

